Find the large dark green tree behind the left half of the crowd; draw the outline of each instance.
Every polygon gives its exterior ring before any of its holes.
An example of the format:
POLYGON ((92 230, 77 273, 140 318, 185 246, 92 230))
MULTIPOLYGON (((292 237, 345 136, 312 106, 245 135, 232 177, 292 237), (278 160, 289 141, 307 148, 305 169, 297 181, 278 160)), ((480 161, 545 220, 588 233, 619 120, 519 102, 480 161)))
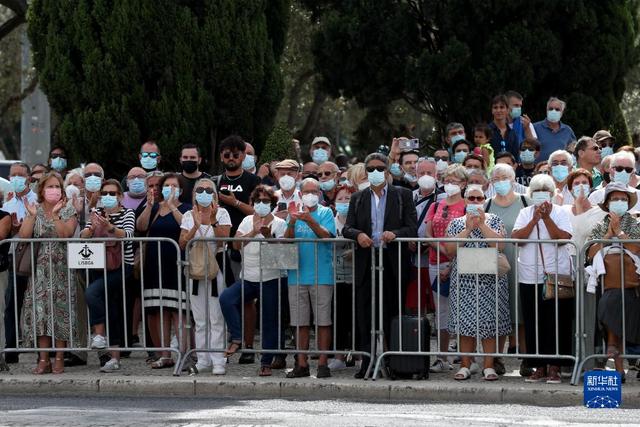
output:
POLYGON ((260 151, 282 97, 288 10, 288 0, 34 0, 29 36, 55 140, 112 173, 150 138, 169 161, 187 142, 214 161, 230 133, 260 151))

